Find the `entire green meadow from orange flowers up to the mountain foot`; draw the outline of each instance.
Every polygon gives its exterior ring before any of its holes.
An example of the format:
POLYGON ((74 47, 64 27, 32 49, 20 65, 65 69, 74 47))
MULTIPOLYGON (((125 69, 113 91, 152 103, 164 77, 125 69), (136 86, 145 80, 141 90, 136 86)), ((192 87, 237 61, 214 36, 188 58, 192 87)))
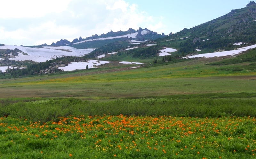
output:
POLYGON ((255 158, 254 54, 0 77, 0 158, 255 158))

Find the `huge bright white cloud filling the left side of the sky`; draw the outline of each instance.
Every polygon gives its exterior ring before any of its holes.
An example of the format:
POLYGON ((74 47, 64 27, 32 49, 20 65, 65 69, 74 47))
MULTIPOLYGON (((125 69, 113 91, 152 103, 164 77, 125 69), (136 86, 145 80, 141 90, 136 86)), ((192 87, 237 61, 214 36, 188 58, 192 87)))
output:
POLYGON ((156 32, 164 27, 161 18, 125 0, 9 0, 1 6, 0 43, 10 45, 52 44, 139 27, 156 32))

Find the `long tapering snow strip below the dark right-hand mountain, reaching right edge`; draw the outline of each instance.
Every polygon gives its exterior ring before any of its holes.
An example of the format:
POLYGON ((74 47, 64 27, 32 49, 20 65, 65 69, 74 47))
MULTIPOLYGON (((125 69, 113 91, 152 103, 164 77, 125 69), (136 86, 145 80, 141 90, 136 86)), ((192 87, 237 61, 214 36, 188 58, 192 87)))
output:
POLYGON ((222 51, 222 52, 217 52, 217 53, 198 54, 198 55, 192 55, 192 56, 187 56, 187 57, 183 57, 183 58, 215 57, 215 56, 221 57, 221 56, 228 56, 228 55, 233 56, 233 55, 240 54, 243 51, 246 51, 248 49, 252 49, 252 48, 255 48, 255 47, 256 47, 256 44, 251 45, 251 46, 247 46, 247 47, 241 47, 241 48, 238 48, 237 50, 222 51))

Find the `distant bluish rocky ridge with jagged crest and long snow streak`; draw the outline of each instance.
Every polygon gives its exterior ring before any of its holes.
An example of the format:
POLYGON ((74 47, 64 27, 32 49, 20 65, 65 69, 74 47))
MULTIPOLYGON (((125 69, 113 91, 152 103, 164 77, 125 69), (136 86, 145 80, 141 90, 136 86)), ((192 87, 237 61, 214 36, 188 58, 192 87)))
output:
POLYGON ((106 34, 104 33, 101 35, 95 34, 85 39, 79 37, 79 39, 74 39, 72 40, 72 42, 61 39, 56 43, 52 43, 52 46, 72 46, 79 49, 99 48, 108 43, 115 42, 118 40, 145 41, 145 40, 155 40, 158 38, 163 38, 165 36, 166 35, 164 35, 164 33, 158 34, 147 28, 145 29, 139 28, 139 30, 134 30, 130 28, 127 31, 118 31, 118 32, 113 32, 111 30, 106 34))

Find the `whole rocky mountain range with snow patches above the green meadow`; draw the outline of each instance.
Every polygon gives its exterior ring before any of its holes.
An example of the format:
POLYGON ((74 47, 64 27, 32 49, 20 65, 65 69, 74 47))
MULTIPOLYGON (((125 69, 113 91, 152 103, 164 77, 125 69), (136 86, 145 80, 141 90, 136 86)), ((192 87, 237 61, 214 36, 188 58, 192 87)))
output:
MULTIPOLYGON (((52 46, 43 44, 23 47, 0 44, 0 66, 26 67, 26 63, 30 62, 55 60, 54 66, 49 62, 48 65, 39 64, 36 71, 34 70, 39 73, 43 69, 44 72, 48 72, 47 67, 56 69, 60 65, 67 66, 70 62, 80 60, 87 61, 82 68, 86 65, 90 67, 89 57, 119 61, 131 58, 134 58, 134 61, 138 58, 149 58, 149 60, 155 58, 154 62, 157 62, 158 56, 164 56, 163 61, 171 61, 173 58, 181 60, 180 57, 184 59, 236 55, 256 47, 253 45, 256 43, 255 34, 256 4, 252 1, 244 8, 234 9, 219 18, 190 29, 184 28, 168 36, 147 28, 139 28, 95 34, 85 39, 79 37, 72 42, 64 39, 52 43, 52 46)), ((92 61, 92 66, 97 63, 100 64, 100 61, 92 61)), ((50 72, 56 71, 55 69, 50 72)))

